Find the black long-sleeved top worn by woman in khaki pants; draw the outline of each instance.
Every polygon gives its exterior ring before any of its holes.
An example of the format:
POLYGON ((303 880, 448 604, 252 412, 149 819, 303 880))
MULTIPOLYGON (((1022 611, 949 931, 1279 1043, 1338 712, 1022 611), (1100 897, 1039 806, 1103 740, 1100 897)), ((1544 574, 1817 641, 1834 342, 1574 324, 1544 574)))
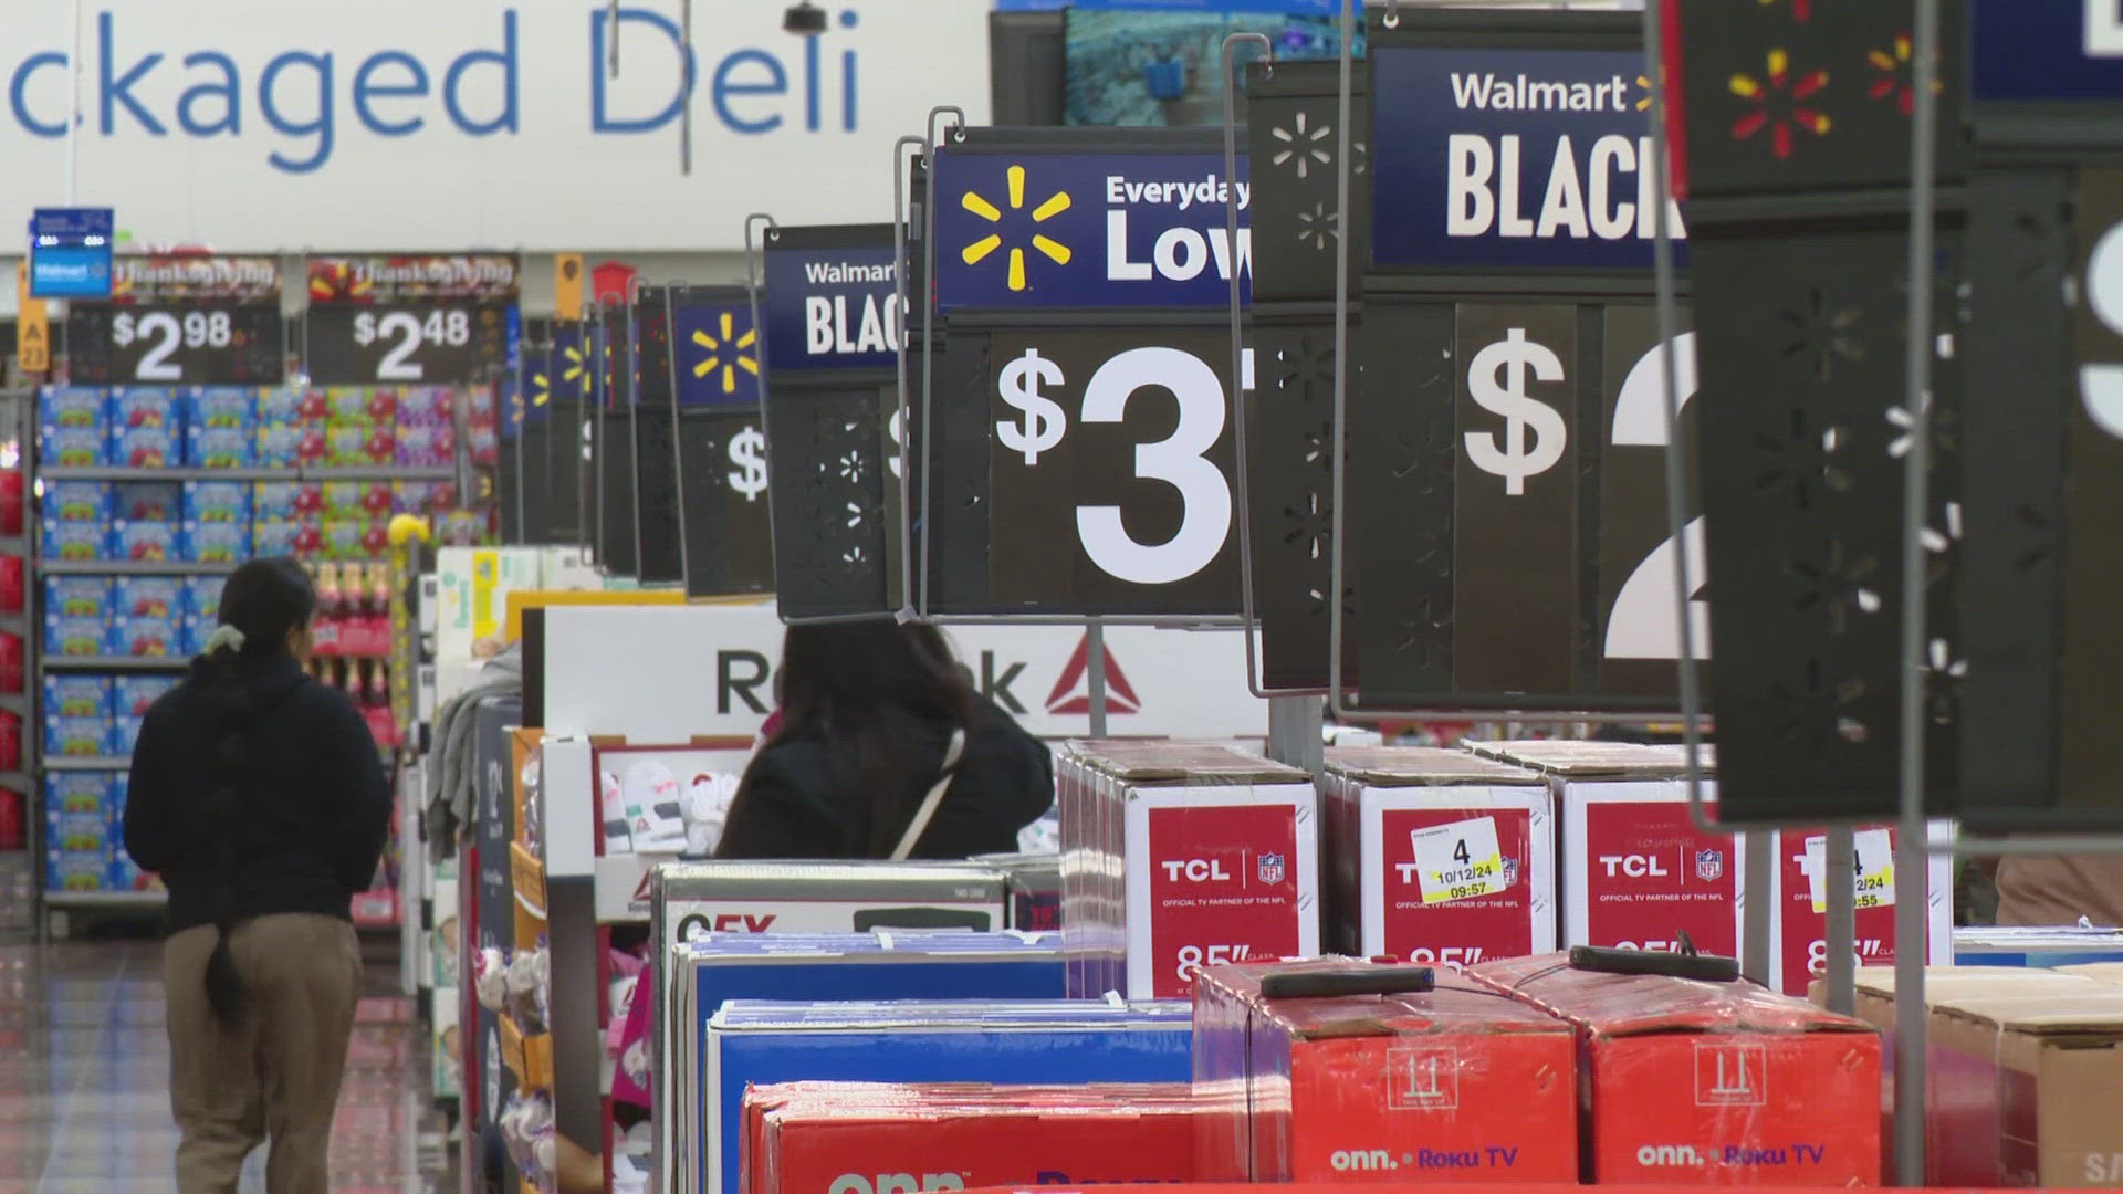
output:
POLYGON ((238 920, 308 911, 350 920, 376 877, 391 826, 391 786, 367 722, 344 693, 287 654, 238 656, 251 688, 251 786, 221 873, 212 795, 212 727, 197 684, 161 695, 140 722, 125 792, 125 850, 170 888, 170 933, 214 922, 227 880, 238 920))

